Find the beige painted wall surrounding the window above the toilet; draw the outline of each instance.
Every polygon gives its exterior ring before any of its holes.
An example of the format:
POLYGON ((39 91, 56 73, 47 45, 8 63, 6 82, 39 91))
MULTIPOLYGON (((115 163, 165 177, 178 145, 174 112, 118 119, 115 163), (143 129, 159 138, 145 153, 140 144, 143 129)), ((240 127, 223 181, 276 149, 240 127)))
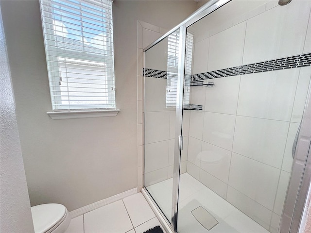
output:
POLYGON ((52 120, 39 3, 1 0, 32 205, 69 211, 137 187, 137 19, 172 28, 195 1, 114 1, 118 116, 52 120))

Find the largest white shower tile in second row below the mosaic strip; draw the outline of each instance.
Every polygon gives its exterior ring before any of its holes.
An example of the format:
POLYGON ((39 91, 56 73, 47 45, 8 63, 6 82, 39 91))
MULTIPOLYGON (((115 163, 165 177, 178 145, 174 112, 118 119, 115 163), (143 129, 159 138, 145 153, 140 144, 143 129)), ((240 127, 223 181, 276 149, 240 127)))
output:
POLYGON ((237 116, 233 152, 281 168, 289 122, 237 116))

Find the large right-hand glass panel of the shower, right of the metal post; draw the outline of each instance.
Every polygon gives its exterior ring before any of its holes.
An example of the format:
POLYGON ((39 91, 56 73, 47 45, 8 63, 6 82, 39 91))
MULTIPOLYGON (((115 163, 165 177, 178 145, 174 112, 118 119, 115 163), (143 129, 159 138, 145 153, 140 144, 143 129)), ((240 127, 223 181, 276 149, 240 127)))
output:
POLYGON ((310 12, 311 1, 235 0, 187 29, 179 233, 278 232, 311 77, 310 12))

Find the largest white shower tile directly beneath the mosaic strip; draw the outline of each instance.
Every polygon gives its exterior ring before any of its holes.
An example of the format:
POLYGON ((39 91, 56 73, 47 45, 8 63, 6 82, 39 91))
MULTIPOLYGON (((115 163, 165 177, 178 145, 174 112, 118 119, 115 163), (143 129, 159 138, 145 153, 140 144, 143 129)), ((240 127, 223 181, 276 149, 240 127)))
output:
POLYGON ((237 115, 290 121, 298 75, 299 69, 242 75, 237 115))

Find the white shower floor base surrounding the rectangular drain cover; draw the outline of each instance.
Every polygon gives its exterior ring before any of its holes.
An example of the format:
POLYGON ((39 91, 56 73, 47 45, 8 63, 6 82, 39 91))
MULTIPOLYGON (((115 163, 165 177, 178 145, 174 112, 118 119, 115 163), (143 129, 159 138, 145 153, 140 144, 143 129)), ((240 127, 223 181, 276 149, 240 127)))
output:
MULTIPOLYGON (((146 187, 165 216, 172 214, 172 187, 172 178, 146 187)), ((180 176, 177 225, 179 233, 269 233, 188 173, 180 176), (209 231, 191 213, 199 206, 219 222, 209 231)))

